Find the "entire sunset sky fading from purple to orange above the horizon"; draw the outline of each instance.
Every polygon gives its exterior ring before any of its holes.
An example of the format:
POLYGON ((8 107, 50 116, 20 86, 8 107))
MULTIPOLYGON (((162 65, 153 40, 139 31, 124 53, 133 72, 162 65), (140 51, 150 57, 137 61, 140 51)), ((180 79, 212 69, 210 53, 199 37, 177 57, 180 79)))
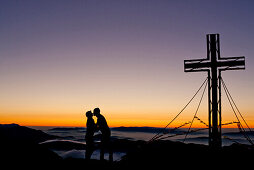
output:
POLYGON ((223 78, 254 127, 253 19, 252 0, 2 0, 0 121, 84 126, 100 107, 110 126, 165 126, 207 76, 184 73, 184 59, 206 58, 206 34, 219 33, 223 57, 246 57, 223 78))

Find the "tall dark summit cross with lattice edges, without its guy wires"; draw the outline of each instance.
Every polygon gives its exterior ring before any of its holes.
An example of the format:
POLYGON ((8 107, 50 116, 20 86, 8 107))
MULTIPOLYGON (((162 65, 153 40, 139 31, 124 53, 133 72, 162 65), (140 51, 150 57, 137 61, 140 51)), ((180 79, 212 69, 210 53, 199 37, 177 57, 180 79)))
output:
POLYGON ((219 34, 207 34, 206 39, 207 58, 184 60, 184 71, 208 73, 209 146, 219 148, 221 147, 221 71, 245 69, 245 58, 244 56, 220 57, 219 34))

